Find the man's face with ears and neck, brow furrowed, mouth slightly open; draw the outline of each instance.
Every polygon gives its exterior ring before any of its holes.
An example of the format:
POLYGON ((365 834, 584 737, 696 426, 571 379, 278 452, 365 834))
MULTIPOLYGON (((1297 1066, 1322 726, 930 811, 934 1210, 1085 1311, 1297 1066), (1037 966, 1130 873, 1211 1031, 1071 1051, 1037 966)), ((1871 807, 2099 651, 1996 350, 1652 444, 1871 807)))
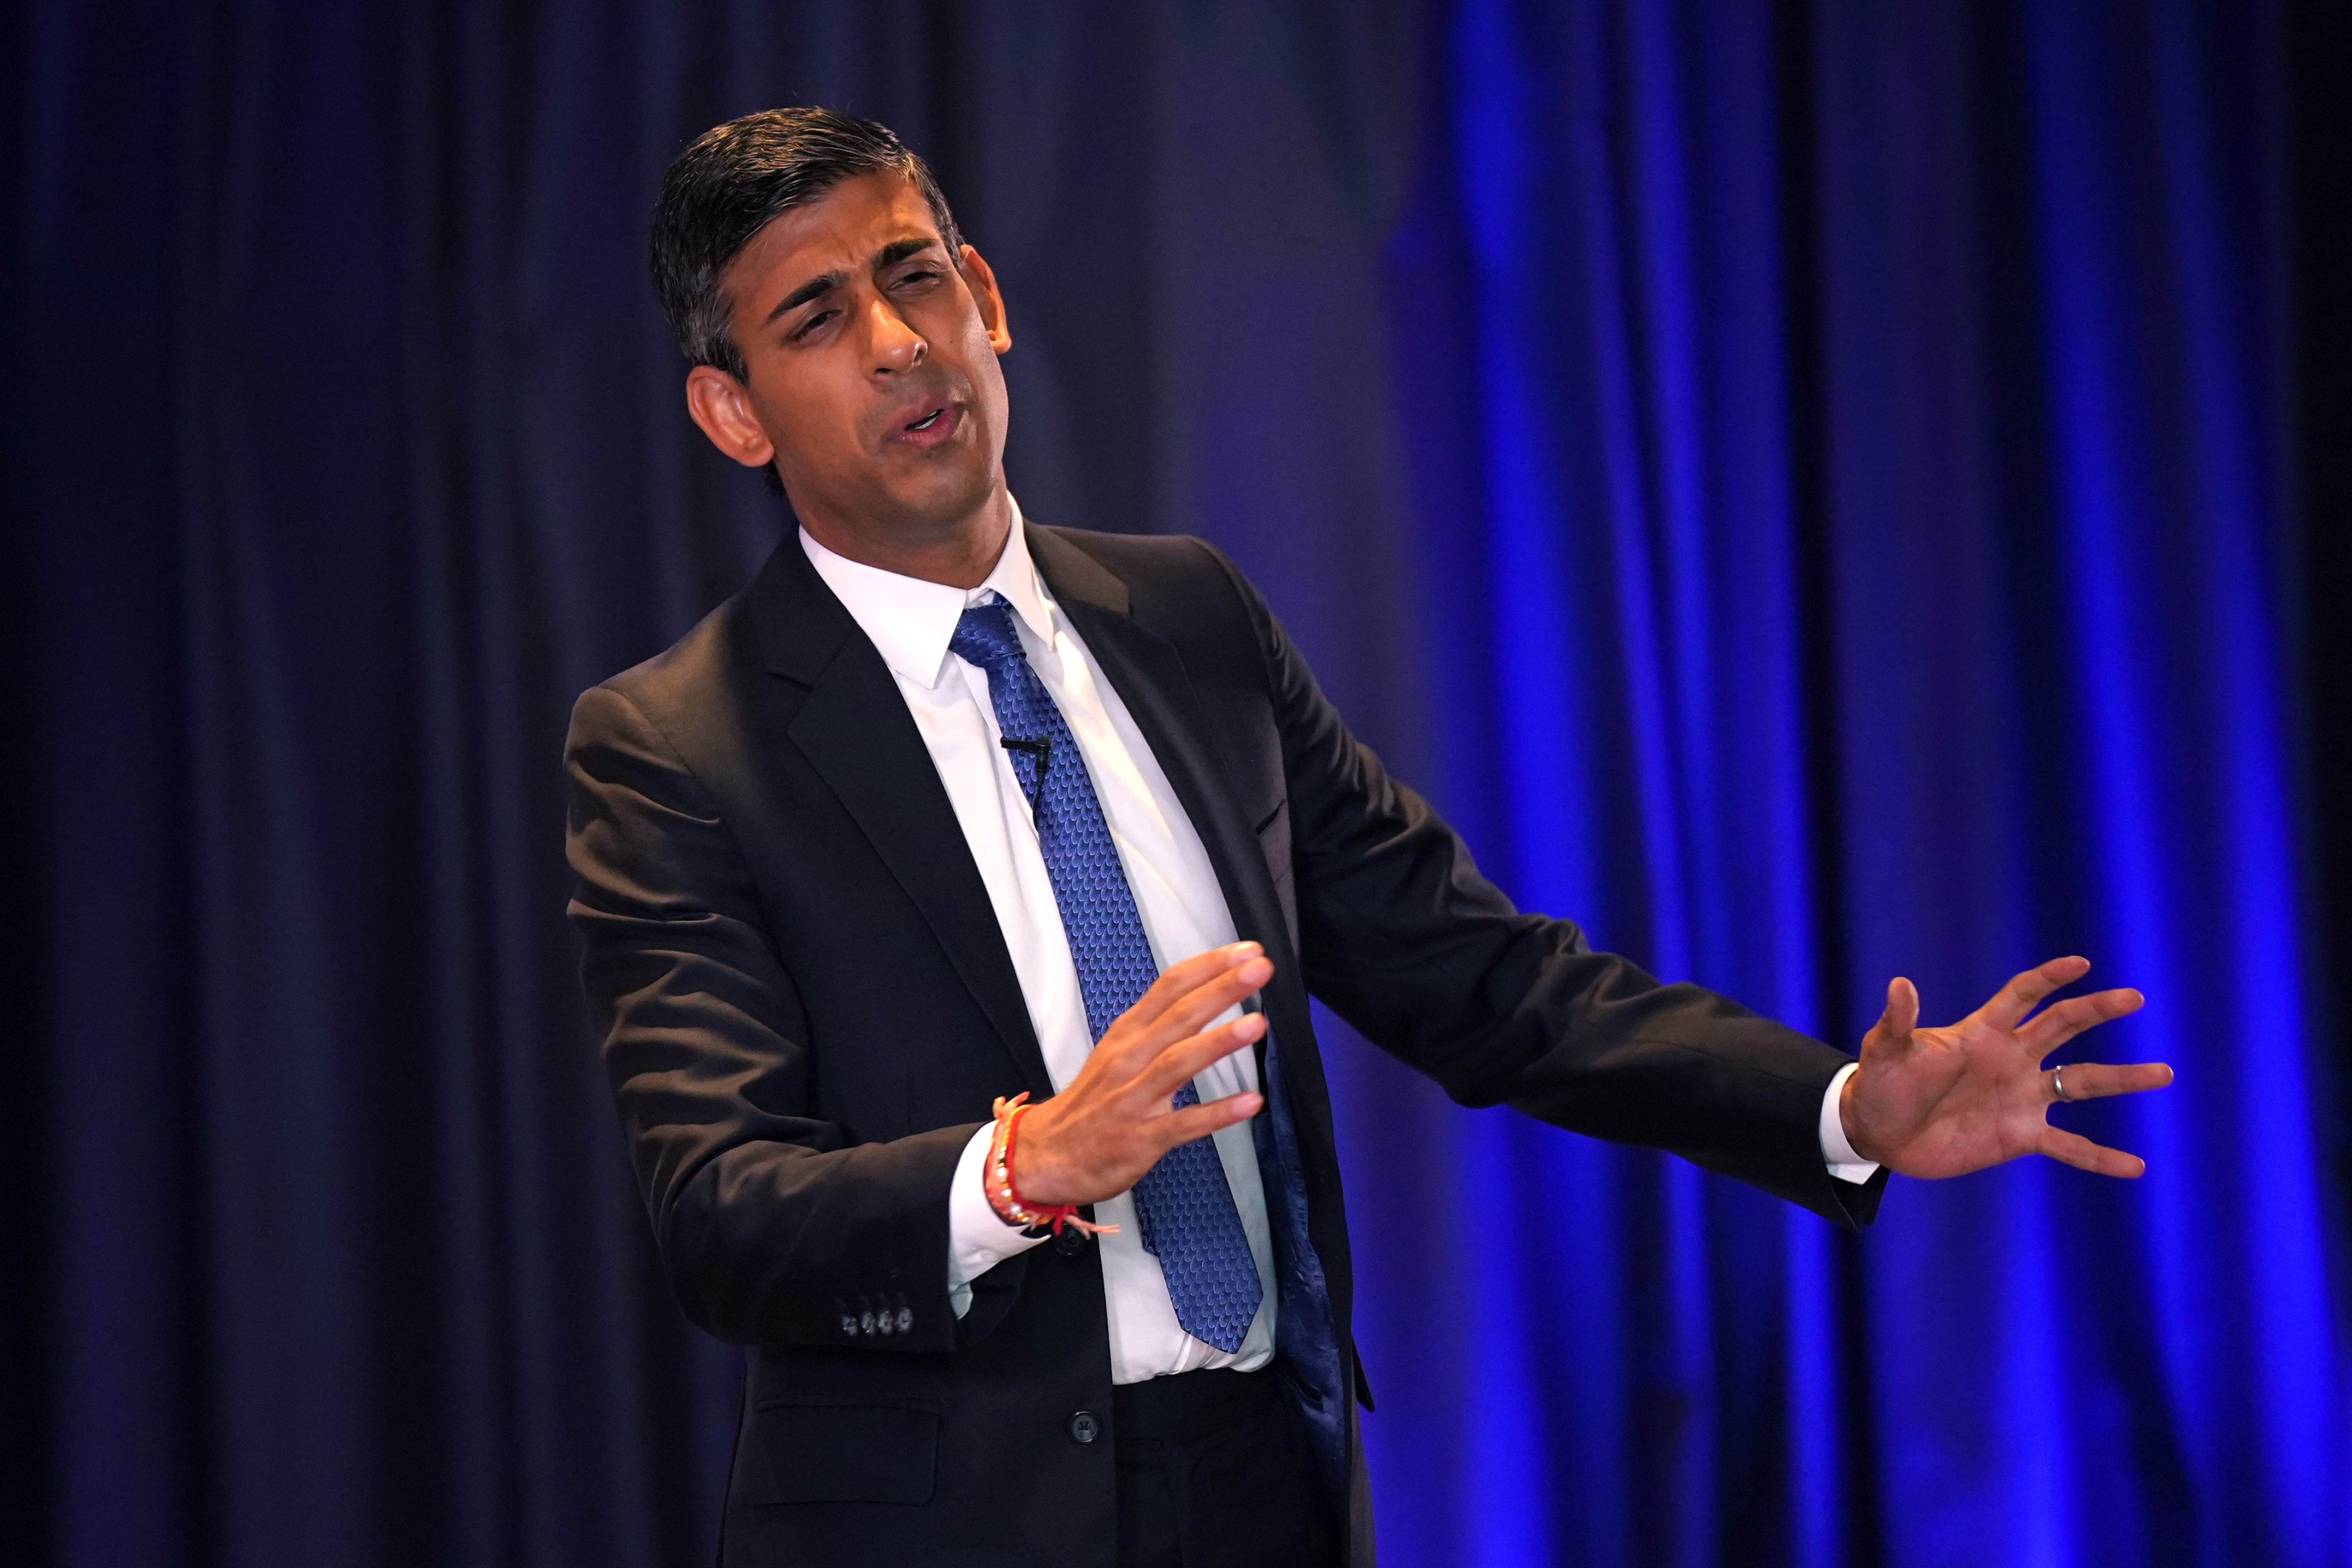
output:
POLYGON ((736 461, 771 456, 811 531, 915 543, 964 524, 1002 484, 1011 334, 988 263, 962 259, 896 174, 783 214, 724 277, 748 386, 699 367, 696 423, 736 461))

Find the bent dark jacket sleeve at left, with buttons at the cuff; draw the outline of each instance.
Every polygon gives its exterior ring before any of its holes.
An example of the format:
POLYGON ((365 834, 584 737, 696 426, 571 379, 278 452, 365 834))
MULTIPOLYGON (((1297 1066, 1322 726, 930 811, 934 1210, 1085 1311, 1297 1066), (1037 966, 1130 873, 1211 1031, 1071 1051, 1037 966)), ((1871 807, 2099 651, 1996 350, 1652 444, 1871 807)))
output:
POLYGON ((564 764, 581 978, 687 1316, 736 1345, 953 1347, 948 1182, 976 1124, 851 1143, 814 1114, 793 976, 691 769, 612 686, 574 705, 564 764))

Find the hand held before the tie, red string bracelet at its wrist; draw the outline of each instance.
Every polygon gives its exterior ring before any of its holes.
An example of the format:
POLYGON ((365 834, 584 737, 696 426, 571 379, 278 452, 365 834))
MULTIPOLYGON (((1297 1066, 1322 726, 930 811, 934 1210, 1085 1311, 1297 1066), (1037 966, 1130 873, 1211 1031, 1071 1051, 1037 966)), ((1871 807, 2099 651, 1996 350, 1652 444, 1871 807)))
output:
POLYGON ((1070 1086, 1021 1114, 1014 1187, 1023 1201, 1101 1204, 1134 1187, 1178 1143, 1258 1114, 1256 1093, 1183 1110, 1169 1100, 1202 1067, 1265 1034, 1258 1013, 1204 1030, 1275 976, 1263 952, 1258 943, 1235 943, 1169 966, 1096 1041, 1070 1086))

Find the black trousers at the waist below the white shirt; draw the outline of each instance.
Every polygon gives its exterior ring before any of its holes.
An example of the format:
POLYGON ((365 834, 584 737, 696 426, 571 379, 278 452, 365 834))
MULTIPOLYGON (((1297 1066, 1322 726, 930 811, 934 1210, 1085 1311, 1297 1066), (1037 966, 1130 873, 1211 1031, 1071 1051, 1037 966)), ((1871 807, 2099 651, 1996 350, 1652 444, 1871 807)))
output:
POLYGON ((1120 1568, 1336 1568, 1338 1530, 1272 1373, 1112 1389, 1120 1568))

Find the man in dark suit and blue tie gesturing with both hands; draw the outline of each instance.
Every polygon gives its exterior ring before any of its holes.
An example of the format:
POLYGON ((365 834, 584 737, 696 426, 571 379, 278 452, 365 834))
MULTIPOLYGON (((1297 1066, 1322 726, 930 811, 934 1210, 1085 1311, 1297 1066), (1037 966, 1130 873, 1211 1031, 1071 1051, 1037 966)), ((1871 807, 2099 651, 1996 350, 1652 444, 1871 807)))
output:
POLYGON ((2039 1070, 2140 1001, 2027 1020, 2082 959, 1950 1030, 1896 980, 1860 1063, 1661 985, 1512 910, 1211 548, 1025 522, 1004 299, 887 129, 701 136, 654 282, 800 520, 569 741, 654 1232, 750 1347, 729 1563, 1369 1563, 1310 994, 1456 1100, 1842 1225, 1889 1168, 2138 1175, 2044 1121, 2171 1077, 2039 1070))

